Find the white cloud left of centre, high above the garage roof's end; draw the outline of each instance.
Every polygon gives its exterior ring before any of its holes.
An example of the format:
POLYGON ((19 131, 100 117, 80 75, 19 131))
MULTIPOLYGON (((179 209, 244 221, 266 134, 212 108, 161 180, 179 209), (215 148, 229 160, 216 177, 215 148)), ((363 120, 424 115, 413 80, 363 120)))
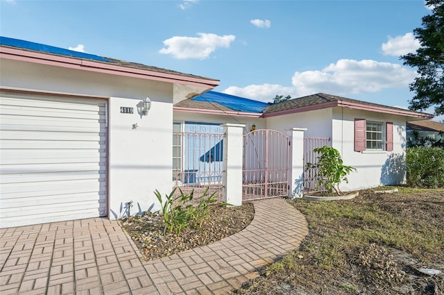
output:
POLYGON ((236 39, 234 35, 219 36, 216 34, 198 33, 199 37, 174 36, 164 40, 164 48, 160 53, 171 54, 174 58, 184 60, 208 58, 218 47, 228 48, 236 39))

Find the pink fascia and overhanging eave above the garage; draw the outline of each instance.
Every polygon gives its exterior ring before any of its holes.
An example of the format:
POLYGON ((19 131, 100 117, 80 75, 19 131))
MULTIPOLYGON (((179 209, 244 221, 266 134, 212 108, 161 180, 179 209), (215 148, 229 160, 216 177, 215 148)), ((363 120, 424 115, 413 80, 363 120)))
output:
POLYGON ((131 78, 141 78, 150 81, 160 81, 173 83, 173 102, 178 103, 184 99, 189 99, 198 94, 212 90, 219 85, 219 81, 210 78, 197 76, 182 76, 180 74, 165 73, 162 71, 150 71, 147 69, 137 69, 133 67, 123 67, 113 65, 111 62, 99 62, 94 60, 83 60, 67 56, 57 56, 49 53, 27 51, 13 47, 0 47, 0 58, 9 60, 19 60, 33 62, 42 65, 55 67, 66 67, 82 71, 94 71, 101 74, 126 76, 131 78))

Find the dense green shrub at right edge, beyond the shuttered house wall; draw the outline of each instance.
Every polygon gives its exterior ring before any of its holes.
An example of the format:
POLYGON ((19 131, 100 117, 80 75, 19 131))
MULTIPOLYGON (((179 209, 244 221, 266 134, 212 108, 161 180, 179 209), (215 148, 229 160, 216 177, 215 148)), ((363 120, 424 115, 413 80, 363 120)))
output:
POLYGON ((444 150, 417 146, 407 149, 407 185, 444 187, 444 150))

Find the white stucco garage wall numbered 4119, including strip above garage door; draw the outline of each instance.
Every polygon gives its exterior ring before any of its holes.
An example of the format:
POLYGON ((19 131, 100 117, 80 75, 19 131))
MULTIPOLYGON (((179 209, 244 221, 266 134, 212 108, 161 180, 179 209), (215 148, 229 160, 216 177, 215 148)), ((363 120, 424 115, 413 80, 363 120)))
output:
POLYGON ((171 192, 172 83, 2 59, 1 87, 108 98, 110 219, 121 217, 128 201, 134 204, 132 214, 157 210, 153 191, 171 192), (140 117, 137 103, 146 96, 152 107, 140 117), (122 114, 120 107, 132 107, 134 114, 122 114), (138 127, 133 129, 133 124, 138 127))

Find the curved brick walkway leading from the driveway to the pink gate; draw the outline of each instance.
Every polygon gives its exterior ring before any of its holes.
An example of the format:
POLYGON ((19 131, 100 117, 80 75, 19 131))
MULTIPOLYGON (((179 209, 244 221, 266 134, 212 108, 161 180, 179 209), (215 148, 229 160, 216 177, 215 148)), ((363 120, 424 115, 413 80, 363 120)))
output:
POLYGON ((240 233, 146 263, 156 287, 165 294, 224 294, 300 245, 308 228, 298 210, 284 199, 253 203, 255 218, 240 233))

